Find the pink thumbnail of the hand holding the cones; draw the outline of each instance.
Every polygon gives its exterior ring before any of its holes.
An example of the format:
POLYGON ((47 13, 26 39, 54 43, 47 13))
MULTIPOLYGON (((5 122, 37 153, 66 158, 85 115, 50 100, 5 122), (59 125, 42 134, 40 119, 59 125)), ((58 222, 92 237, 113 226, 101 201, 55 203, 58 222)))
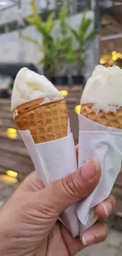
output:
POLYGON ((82 167, 82 174, 87 180, 91 180, 97 173, 99 168, 99 163, 96 159, 91 159, 87 161, 85 165, 82 167))

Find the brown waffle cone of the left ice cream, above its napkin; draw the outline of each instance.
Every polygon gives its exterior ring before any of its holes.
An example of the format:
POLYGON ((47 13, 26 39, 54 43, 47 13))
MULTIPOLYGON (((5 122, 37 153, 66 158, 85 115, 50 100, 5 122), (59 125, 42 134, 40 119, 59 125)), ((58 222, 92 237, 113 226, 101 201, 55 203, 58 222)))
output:
MULTIPOLYGON (((67 136, 68 113, 65 99, 39 105, 43 98, 18 106, 14 121, 19 130, 29 130, 35 143, 67 136)), ((14 114, 13 111, 13 114, 14 114)))

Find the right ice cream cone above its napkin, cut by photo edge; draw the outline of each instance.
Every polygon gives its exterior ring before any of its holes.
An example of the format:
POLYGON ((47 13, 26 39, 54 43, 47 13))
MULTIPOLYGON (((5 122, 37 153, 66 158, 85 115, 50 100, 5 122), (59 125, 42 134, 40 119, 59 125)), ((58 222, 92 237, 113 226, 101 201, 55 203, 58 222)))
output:
POLYGON ((80 100, 80 113, 98 124, 122 129, 122 70, 95 67, 80 100))

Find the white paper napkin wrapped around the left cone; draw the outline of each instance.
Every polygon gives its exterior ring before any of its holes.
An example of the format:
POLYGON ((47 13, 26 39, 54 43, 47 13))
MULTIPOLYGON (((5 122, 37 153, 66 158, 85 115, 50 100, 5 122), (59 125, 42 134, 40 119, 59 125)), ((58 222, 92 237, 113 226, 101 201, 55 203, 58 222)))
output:
MULTIPOLYGON (((35 165, 37 174, 45 185, 76 171, 76 150, 71 132, 65 138, 39 144, 34 143, 29 131, 19 132, 35 165)), ((70 230, 72 236, 79 235, 80 224, 76 213, 76 204, 62 213, 61 221, 70 230)))

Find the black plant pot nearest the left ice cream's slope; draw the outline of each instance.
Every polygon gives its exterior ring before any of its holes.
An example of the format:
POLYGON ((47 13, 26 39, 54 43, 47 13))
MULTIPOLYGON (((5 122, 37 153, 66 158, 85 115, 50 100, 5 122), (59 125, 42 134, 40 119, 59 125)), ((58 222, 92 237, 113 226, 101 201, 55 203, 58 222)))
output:
POLYGON ((68 85, 68 76, 50 76, 50 81, 54 85, 68 85))

